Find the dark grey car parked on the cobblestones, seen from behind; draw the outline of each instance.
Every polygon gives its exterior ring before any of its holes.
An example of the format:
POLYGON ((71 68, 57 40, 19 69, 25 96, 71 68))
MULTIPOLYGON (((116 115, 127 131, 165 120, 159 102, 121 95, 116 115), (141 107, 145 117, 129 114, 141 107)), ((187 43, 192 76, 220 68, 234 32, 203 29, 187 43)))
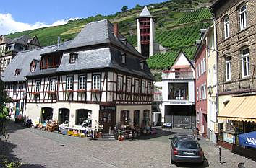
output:
POLYGON ((203 163, 204 154, 194 136, 178 134, 171 139, 171 163, 203 163))

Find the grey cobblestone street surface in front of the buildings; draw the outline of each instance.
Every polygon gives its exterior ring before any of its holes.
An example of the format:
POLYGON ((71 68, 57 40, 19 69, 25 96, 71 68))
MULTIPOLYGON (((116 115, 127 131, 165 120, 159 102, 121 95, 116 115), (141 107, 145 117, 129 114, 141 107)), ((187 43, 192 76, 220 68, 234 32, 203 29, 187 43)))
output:
MULTIPOLYGON (((22 128, 12 124, 8 128, 9 155, 24 163, 23 167, 255 167, 256 162, 222 149, 218 162, 218 146, 200 140, 205 152, 205 163, 170 164, 168 138, 182 129, 157 131, 133 141, 89 141, 87 138, 63 136, 58 133, 22 128)), ((1 144, 2 146, 2 144, 1 144)), ((8 153, 8 152, 7 152, 8 153)))

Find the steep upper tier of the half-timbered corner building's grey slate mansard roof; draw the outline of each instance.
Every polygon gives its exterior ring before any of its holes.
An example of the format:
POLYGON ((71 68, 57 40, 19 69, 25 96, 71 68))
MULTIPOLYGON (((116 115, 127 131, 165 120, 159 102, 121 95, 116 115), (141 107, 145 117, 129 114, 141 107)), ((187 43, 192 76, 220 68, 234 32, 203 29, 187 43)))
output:
POLYGON ((143 57, 135 48, 127 42, 127 45, 122 43, 125 37, 119 33, 118 38, 114 35, 114 25, 107 19, 97 22, 90 22, 82 29, 82 31, 70 41, 68 45, 62 46, 59 50, 69 50, 81 48, 90 45, 99 45, 103 43, 111 43, 124 50, 134 53, 137 56, 143 57))

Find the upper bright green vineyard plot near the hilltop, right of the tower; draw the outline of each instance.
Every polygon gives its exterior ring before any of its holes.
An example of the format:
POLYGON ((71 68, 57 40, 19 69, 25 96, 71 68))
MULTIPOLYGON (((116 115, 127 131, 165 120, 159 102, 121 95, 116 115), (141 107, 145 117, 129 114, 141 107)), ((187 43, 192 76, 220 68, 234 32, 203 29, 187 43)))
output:
POLYGON ((179 19, 178 24, 201 21, 202 19, 210 19, 213 17, 213 14, 210 12, 210 9, 197 9, 192 12, 186 12, 183 17, 179 19))

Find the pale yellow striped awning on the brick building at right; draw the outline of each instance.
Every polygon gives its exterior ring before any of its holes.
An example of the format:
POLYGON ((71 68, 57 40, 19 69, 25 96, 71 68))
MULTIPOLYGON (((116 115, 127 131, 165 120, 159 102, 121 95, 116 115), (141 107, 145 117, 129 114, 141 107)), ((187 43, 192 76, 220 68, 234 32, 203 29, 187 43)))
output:
POLYGON ((256 95, 232 97, 218 114, 220 120, 239 120, 256 123, 256 95))

